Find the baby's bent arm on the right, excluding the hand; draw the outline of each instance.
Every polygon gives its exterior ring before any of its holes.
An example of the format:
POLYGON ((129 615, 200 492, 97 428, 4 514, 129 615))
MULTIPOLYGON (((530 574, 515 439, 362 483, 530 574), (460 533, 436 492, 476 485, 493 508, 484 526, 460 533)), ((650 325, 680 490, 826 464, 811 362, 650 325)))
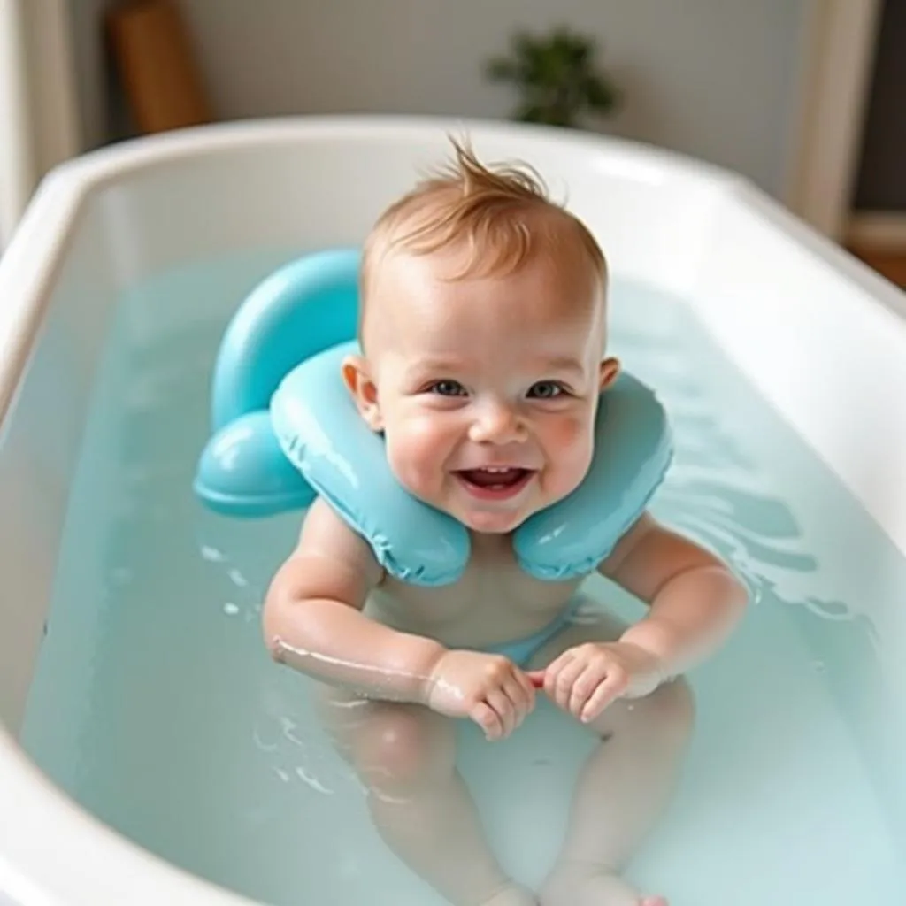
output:
POLYGON ((718 557, 645 514, 599 572, 650 605, 621 642, 653 655, 664 677, 706 659, 728 637, 748 600, 718 557))

